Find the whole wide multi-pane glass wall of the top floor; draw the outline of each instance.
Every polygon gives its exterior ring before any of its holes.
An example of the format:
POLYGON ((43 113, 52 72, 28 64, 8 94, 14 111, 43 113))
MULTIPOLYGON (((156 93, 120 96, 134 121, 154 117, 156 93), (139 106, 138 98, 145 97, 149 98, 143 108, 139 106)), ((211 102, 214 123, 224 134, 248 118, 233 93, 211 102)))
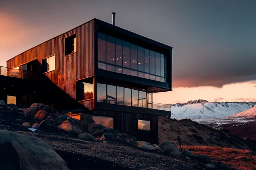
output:
POLYGON ((166 82, 166 56, 102 33, 98 34, 98 68, 166 82))

